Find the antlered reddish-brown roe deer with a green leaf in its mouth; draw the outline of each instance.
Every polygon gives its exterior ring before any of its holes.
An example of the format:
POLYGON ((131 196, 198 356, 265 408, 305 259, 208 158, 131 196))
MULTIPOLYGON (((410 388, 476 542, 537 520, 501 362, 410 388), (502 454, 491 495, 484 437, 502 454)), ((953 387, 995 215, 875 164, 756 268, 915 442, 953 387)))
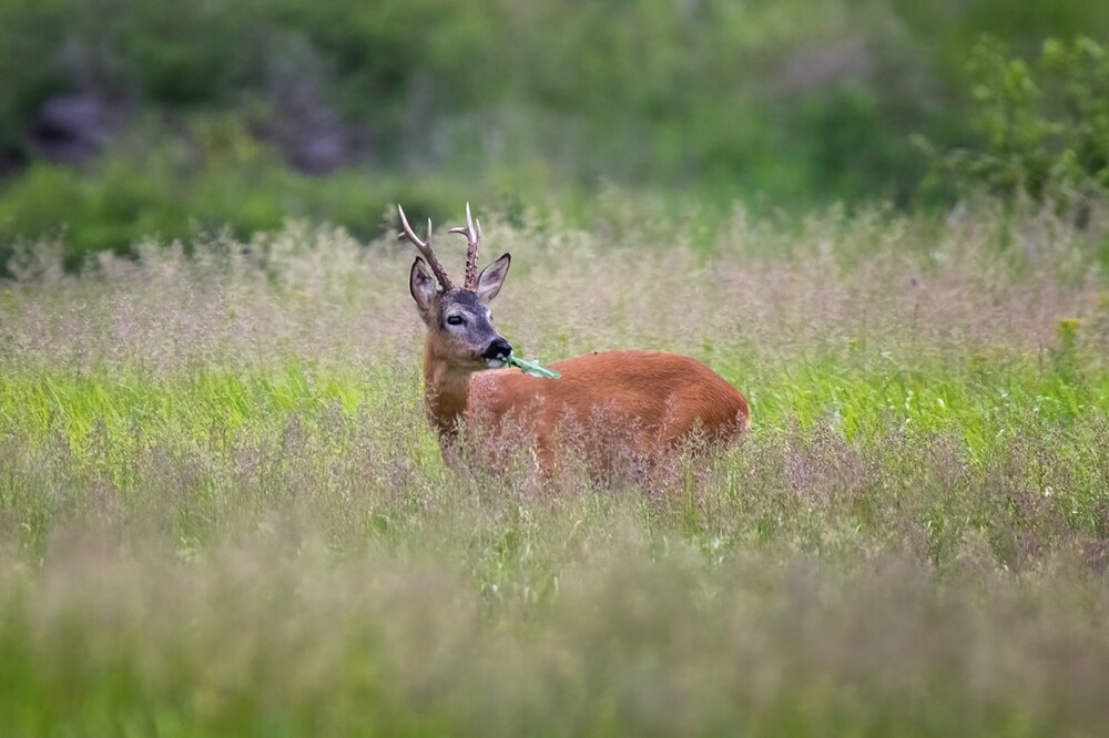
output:
POLYGON ((489 304, 511 255, 478 271, 481 224, 467 203, 466 224, 448 232, 467 240, 465 278, 456 287, 431 249, 431 219, 420 238, 400 205, 397 212, 399 238, 418 254, 409 291, 427 327, 425 410, 448 463, 466 440, 460 433, 479 435, 489 448, 508 435, 523 439, 549 478, 567 445, 611 468, 620 460, 658 461, 693 439, 725 447, 750 427, 746 398, 688 356, 600 351, 557 361, 558 379, 508 368, 512 346, 494 327, 489 304))

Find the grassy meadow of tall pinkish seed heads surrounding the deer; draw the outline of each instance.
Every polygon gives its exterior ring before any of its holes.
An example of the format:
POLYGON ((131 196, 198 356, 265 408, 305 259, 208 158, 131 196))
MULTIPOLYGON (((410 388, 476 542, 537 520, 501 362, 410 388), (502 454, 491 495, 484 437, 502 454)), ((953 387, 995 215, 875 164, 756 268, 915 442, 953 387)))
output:
POLYGON ((482 263, 523 356, 747 396, 741 445, 647 488, 446 468, 393 239, 29 249, 4 735, 1106 735, 1107 214, 610 205, 480 213, 482 263))

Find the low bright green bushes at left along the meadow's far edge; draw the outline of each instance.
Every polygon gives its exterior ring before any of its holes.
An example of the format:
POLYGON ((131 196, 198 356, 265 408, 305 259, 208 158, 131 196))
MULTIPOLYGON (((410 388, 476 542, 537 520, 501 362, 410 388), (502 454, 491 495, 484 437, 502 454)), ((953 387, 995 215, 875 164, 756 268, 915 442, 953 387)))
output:
POLYGON ((28 170, 0 192, 0 274, 27 234, 53 235, 67 267, 75 268, 98 253, 133 256, 151 237, 187 242, 226 229, 246 238, 287 219, 343 223, 369 238, 380 234, 391 203, 403 199, 438 219, 480 194, 461 182, 367 180, 356 172, 315 181, 284 166, 233 115, 197 117, 189 142, 138 139, 138 153, 121 148, 82 175, 59 164, 28 170))

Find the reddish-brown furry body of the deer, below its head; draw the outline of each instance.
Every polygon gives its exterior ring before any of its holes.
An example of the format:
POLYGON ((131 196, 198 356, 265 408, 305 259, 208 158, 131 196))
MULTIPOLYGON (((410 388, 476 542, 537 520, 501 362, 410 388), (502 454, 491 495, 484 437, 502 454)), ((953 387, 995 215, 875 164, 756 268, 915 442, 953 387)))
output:
POLYGON ((445 443, 452 442, 459 421, 488 444, 533 443, 548 474, 561 445, 576 445, 593 465, 611 468, 618 457, 654 460, 694 437, 726 444, 750 423, 746 399, 689 357, 606 351, 553 368, 561 379, 495 369, 465 383, 451 372, 439 372, 436 382, 436 372, 425 369, 429 418, 445 443))

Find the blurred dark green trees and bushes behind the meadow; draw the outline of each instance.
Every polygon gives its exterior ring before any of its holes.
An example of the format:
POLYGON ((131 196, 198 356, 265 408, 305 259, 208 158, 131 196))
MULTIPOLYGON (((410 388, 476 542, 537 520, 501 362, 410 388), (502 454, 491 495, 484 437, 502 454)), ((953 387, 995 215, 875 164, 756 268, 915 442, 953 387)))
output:
POLYGON ((0 248, 1045 197, 1105 177, 1107 38, 1089 0, 0 0, 0 248))

